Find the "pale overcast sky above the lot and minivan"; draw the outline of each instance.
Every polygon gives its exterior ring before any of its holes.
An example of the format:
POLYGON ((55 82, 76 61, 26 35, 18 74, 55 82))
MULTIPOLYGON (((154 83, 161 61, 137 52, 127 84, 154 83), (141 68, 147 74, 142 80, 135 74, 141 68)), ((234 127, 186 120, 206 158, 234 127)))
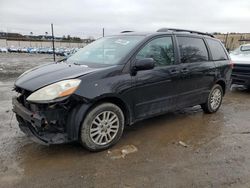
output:
POLYGON ((161 27, 250 32, 250 0, 0 0, 0 31, 79 37, 161 27))

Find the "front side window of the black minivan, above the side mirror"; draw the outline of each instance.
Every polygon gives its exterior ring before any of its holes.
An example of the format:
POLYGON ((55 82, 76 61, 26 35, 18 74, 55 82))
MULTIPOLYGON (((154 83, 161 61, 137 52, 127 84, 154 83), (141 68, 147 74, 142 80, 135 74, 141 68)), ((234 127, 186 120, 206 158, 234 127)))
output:
POLYGON ((136 56, 136 59, 153 58, 156 66, 172 65, 174 50, 171 37, 162 37, 150 41, 136 56))

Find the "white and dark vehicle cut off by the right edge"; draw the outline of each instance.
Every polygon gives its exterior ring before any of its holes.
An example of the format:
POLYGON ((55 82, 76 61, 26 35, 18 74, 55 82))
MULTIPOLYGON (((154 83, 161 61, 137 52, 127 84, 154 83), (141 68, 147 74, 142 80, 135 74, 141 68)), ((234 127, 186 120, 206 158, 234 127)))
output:
POLYGON ((232 84, 250 88, 250 44, 241 45, 230 56, 234 63, 232 84))

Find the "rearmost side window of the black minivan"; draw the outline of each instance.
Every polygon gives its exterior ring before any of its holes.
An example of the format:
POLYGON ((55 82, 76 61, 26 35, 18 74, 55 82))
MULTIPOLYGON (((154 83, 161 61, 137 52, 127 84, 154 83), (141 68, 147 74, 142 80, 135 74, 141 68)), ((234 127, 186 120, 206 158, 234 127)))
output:
POLYGON ((212 39, 206 39, 208 46, 210 48, 210 51, 212 53, 213 60, 225 60, 228 59, 227 55, 222 47, 222 44, 219 41, 212 40, 212 39))

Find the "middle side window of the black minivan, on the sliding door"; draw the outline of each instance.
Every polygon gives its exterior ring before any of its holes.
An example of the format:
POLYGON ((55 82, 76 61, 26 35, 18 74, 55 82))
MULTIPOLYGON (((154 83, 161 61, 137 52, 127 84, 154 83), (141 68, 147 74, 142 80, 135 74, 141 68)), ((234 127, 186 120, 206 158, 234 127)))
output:
POLYGON ((208 52, 202 39, 177 37, 182 63, 208 61, 208 52))

